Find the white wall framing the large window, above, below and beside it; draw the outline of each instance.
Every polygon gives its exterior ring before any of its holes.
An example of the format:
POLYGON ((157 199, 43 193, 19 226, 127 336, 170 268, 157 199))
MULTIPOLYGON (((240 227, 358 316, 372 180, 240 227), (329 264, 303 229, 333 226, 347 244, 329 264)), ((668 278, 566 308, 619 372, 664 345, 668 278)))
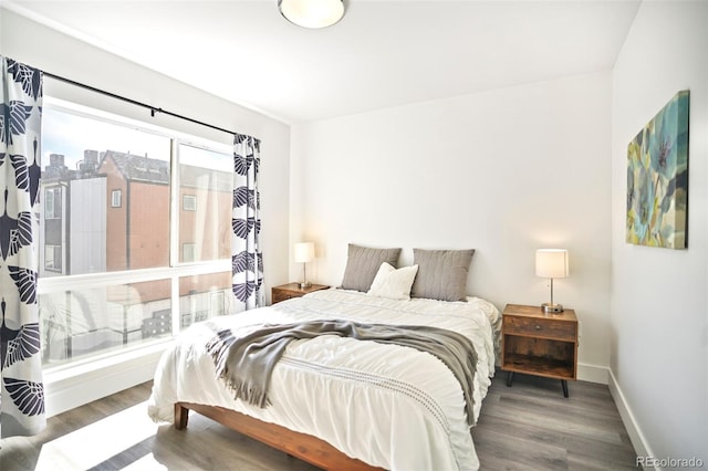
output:
MULTIPOLYGON (((271 284, 288 280, 288 264, 283 261, 288 260, 289 253, 289 125, 160 75, 2 8, 0 8, 0 54, 55 75, 260 138, 262 145, 259 182, 263 221, 261 242, 268 300, 270 300, 271 284)), ((188 61, 190 57, 185 60, 188 61)), ((228 54, 223 60, 229 60, 228 54)), ((201 65, 205 66, 205 73, 208 73, 208 64, 201 65)), ((44 95, 220 143, 232 142, 232 136, 229 134, 209 130, 166 115, 158 114, 155 118, 150 118, 147 109, 51 78, 45 78, 44 95)), ((153 375, 156 359, 157 356, 153 353, 146 358, 132 358, 132 363, 124 364, 114 371, 108 370, 110 365, 105 366, 100 374, 86 371, 86 375, 82 376, 83 380, 87 381, 84 384, 80 378, 72 378, 65 374, 45 378, 48 379, 48 412, 56 414, 147 380, 153 375)))

